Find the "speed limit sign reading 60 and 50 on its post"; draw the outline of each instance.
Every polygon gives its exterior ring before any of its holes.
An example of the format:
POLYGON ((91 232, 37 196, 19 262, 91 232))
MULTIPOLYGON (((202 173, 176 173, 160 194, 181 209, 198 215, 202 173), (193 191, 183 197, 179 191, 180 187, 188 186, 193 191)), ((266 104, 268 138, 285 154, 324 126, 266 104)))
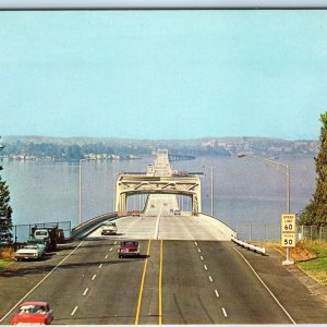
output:
POLYGON ((281 215, 281 246, 287 250, 286 261, 282 262, 283 265, 292 265, 294 262, 290 257, 290 247, 295 247, 296 243, 296 226, 295 226, 295 215, 294 214, 283 214, 281 215))

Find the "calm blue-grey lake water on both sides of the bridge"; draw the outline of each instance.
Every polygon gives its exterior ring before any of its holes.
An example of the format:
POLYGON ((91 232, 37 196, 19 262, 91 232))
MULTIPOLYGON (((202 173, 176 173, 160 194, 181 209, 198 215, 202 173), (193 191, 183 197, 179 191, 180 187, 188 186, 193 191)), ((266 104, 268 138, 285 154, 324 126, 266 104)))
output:
MULTIPOLYGON (((137 160, 82 162, 82 220, 113 211, 114 181, 119 172, 145 172, 156 157, 137 160)), ((298 214, 315 191, 315 162, 312 156, 276 160, 290 167, 291 213, 298 214)), ((1 175, 11 193, 13 223, 71 221, 80 219, 78 162, 3 161, 1 175)), ((172 161, 173 169, 204 172, 202 209, 211 210, 210 167, 214 171, 214 216, 233 228, 247 223, 280 223, 287 210, 286 170, 251 157, 199 157, 172 161)), ((184 209, 189 199, 179 198, 184 209)), ((128 209, 140 208, 145 196, 135 196, 128 209)))

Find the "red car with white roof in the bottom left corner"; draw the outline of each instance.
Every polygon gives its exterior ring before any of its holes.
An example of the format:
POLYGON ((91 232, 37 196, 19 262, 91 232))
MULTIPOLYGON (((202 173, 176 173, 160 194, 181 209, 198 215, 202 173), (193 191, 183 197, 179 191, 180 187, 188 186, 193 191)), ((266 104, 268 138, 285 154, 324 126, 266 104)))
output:
POLYGON ((50 325, 53 312, 47 302, 24 302, 13 316, 10 325, 50 325))

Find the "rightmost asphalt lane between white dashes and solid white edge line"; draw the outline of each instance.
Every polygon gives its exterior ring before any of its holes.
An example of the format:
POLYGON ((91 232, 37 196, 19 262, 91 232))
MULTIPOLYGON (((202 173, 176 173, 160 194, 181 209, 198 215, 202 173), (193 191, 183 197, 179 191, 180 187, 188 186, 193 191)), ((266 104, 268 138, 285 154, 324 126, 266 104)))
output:
POLYGON ((245 262, 233 243, 198 242, 221 306, 231 324, 292 324, 245 262))

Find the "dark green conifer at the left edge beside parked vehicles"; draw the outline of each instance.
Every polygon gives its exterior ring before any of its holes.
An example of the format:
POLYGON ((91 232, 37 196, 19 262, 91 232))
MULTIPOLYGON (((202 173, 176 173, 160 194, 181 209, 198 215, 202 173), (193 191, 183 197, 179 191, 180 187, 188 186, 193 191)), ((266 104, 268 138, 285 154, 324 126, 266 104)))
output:
MULTIPOLYGON (((1 146, 0 149, 2 148, 1 146)), ((9 201, 10 192, 8 185, 2 181, 0 175, 0 244, 12 242, 12 208, 9 205, 9 201)))

